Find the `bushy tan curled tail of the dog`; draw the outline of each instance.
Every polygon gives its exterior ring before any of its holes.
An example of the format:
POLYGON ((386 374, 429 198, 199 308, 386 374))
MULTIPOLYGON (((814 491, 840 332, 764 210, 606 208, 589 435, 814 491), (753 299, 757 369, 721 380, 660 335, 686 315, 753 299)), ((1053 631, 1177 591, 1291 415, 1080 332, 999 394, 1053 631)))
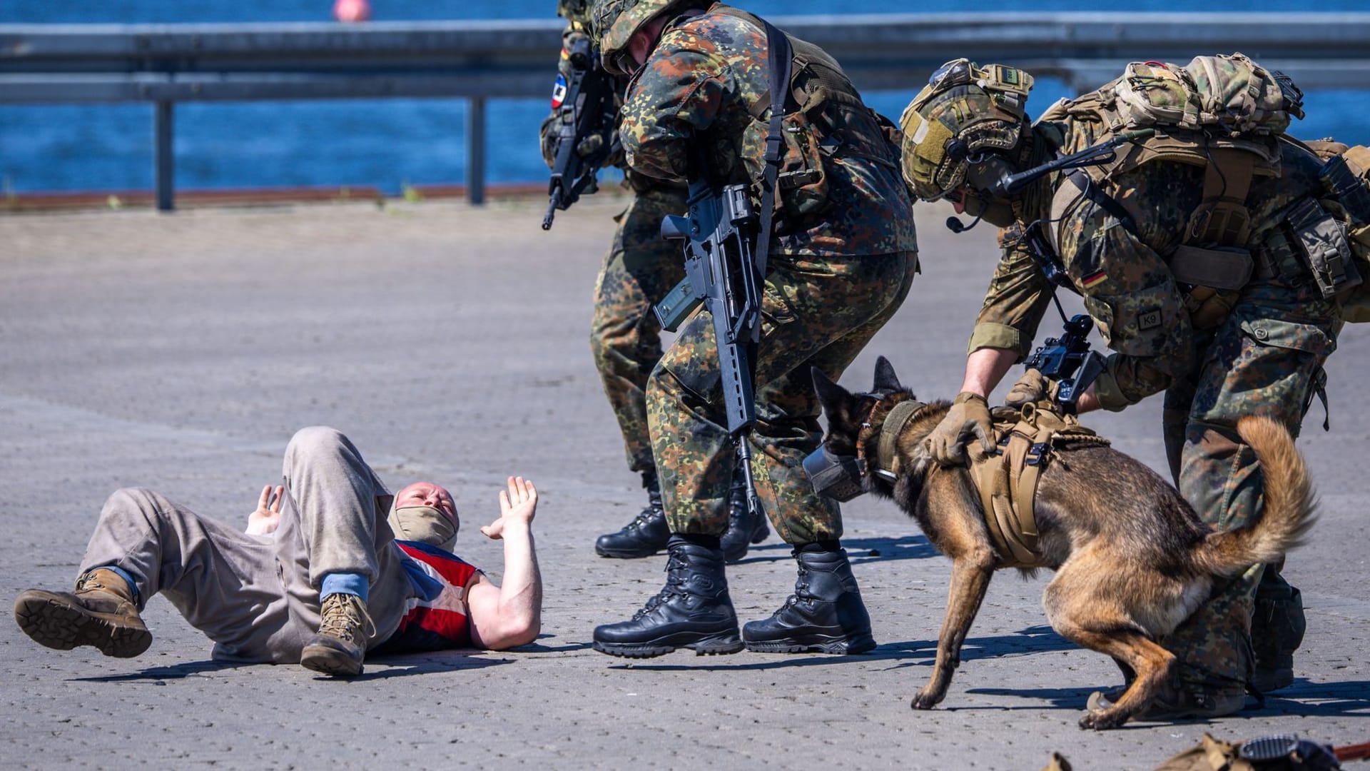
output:
POLYGON ((1303 543, 1317 509, 1308 465, 1282 423, 1248 416, 1237 421, 1237 434, 1260 461, 1265 509, 1245 527, 1208 534, 1195 550, 1201 568, 1223 576, 1238 575, 1256 562, 1278 562, 1285 551, 1303 543))

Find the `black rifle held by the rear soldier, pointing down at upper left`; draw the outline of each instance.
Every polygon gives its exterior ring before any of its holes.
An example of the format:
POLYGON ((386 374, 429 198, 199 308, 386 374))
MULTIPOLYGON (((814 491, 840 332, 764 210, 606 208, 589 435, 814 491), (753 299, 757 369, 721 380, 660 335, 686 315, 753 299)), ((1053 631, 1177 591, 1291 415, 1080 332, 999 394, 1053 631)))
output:
POLYGON ((599 56, 585 37, 571 45, 567 52, 571 64, 571 80, 558 75, 553 104, 556 110, 556 151, 552 162, 552 180, 548 182, 547 215, 543 229, 552 229, 556 210, 566 211, 580 200, 581 193, 599 191, 599 167, 610 155, 618 152, 618 132, 614 119, 618 104, 614 99, 614 77, 600 66, 599 56), (560 99, 558 99, 560 97, 560 99), (608 134, 606 141, 589 155, 581 155, 577 148, 585 139, 608 134))

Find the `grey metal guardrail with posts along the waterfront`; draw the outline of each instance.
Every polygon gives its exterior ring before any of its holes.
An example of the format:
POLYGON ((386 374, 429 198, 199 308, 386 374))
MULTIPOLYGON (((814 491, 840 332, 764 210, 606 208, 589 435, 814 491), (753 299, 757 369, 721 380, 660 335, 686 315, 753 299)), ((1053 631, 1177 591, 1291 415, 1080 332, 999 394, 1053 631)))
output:
MULTIPOLYGON (((1126 62, 1243 51, 1303 88, 1370 84, 1370 12, 786 16, 866 91, 911 89, 956 56, 1084 91, 1126 62)), ((485 102, 549 92, 562 22, 0 25, 0 103, 155 104, 158 207, 173 200, 177 102, 470 100, 467 195, 485 196, 485 102)))

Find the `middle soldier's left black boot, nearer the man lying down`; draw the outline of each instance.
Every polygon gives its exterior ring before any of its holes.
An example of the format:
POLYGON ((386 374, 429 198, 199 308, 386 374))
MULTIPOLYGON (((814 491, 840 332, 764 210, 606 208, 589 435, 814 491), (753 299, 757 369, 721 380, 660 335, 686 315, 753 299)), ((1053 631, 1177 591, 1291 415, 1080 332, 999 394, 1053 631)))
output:
POLYGON ((723 553, 690 541, 671 536, 666 546, 666 587, 633 620, 595 627, 595 650, 647 659, 677 648, 690 648, 700 656, 743 649, 723 576, 723 553))

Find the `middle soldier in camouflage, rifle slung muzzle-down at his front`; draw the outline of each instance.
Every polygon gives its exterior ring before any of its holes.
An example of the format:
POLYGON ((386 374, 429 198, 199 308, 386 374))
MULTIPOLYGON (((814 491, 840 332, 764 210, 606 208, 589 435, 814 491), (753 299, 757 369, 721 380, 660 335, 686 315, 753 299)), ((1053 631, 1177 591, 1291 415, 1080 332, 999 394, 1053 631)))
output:
MULTIPOLYGON (((619 133, 629 167, 684 180, 692 151, 710 182, 749 184, 760 200, 770 96, 763 23, 722 4, 595 0, 606 66, 632 73, 619 133)), ((595 648, 658 656, 875 646, 847 553, 841 513, 814 493, 803 458, 818 447, 811 368, 838 377, 899 309, 917 272, 911 202, 897 147, 830 56, 795 51, 786 152, 770 237, 756 362, 752 473, 771 524, 799 562, 795 594, 738 635, 719 535, 736 454, 726 428, 712 321, 700 310, 652 370, 647 414, 662 475, 666 587, 629 621, 595 630, 595 648), (819 150, 822 148, 822 150, 819 150)))

